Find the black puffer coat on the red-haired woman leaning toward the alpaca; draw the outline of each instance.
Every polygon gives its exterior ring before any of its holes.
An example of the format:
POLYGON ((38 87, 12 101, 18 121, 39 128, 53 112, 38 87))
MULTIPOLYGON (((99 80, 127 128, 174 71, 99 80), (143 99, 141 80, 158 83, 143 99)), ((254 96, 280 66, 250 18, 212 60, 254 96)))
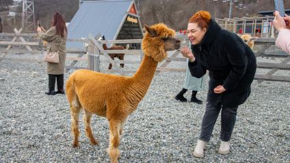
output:
POLYGON ((200 78, 209 71, 209 103, 237 107, 246 101, 256 73, 256 58, 237 34, 221 29, 211 19, 201 43, 192 45, 192 53, 196 58, 188 64, 192 76, 200 78), (226 92, 215 94, 213 89, 219 85, 226 92))

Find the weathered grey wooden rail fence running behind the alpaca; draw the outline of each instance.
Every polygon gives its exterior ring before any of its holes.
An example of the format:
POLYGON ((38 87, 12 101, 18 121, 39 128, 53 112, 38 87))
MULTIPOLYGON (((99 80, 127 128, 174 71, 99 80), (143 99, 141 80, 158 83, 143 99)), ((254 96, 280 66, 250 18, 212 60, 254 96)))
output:
MULTIPOLYGON (((21 30, 15 31, 15 34, 0 34, 1 38, 6 38, 6 40, 0 40, 0 46, 10 46, 5 48, 0 48, 0 58, 4 58, 6 54, 8 53, 34 53, 34 54, 40 54, 44 52, 44 48, 41 47, 39 44, 40 39, 36 38, 36 34, 21 34, 21 30), (11 41, 8 41, 7 38, 12 38, 11 41), (34 37, 34 42, 30 41, 22 41, 21 37, 34 37), (18 41, 16 41, 16 39, 18 41), (20 40, 20 41, 19 41, 20 40), (34 47, 29 49, 12 49, 13 46, 29 46, 34 47)), ((101 36, 101 35, 99 35, 101 36)), ((68 38, 67 42, 83 42, 88 44, 88 50, 84 49, 66 49, 67 52, 67 61, 70 62, 69 65, 66 65, 66 72, 73 70, 73 69, 80 69, 80 68, 87 68, 92 71, 99 71, 102 73, 118 73, 122 75, 127 75, 131 73, 135 73, 137 70, 125 70, 122 68, 119 68, 119 64, 140 64, 143 58, 143 51, 141 49, 125 49, 125 50, 104 50, 103 44, 130 44, 130 43, 142 43, 141 39, 135 39, 135 40, 98 40, 97 38, 99 36, 92 36, 91 34, 88 35, 87 39, 79 39, 79 38, 68 38), (78 54, 77 56, 71 56, 70 53, 78 54), (140 55, 140 60, 112 60, 109 57, 109 53, 125 53, 125 54, 133 54, 133 55, 140 55), (100 60, 100 55, 103 54, 105 56, 105 60, 100 60), (75 66, 77 62, 87 62, 87 66, 80 67, 75 66), (113 64, 112 70, 102 69, 100 64, 113 64)), ((184 35, 176 35, 176 38, 179 38, 182 40, 182 46, 188 46, 189 40, 187 39, 187 36, 184 35)), ((24 39, 24 38, 23 38, 24 39)), ((265 74, 257 74, 255 76, 255 79, 257 79, 259 82, 263 82, 264 80, 270 80, 270 81, 280 81, 280 82, 290 82, 289 76, 277 76, 274 75, 277 71, 290 71, 290 55, 287 53, 265 53, 269 47, 274 46, 275 39, 274 38, 258 38, 255 40, 255 54, 256 57, 266 57, 266 58, 284 58, 282 62, 280 63, 270 63, 270 62, 258 62, 257 68, 263 68, 263 69, 269 69, 269 72, 265 74)), ((281 59, 280 59, 281 60, 281 59)), ((38 62, 41 62, 41 60, 38 60, 38 62)), ((163 72, 163 71, 169 71, 169 72, 185 72, 185 68, 172 68, 170 67, 170 62, 183 62, 183 64, 186 64, 186 59, 181 56, 180 49, 174 51, 171 55, 166 58, 159 66, 157 67, 157 73, 163 72)))

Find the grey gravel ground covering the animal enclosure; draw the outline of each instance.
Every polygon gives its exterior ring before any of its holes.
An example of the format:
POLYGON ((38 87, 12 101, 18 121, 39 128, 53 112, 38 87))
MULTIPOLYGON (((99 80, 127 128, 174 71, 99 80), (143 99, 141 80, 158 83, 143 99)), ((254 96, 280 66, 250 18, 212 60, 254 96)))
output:
MULTIPOLYGON (((133 55, 125 58, 138 59, 133 55)), ((172 62, 170 66, 185 64, 172 62)), ((125 69, 136 67, 125 65, 125 69)), ((192 153, 205 104, 174 100, 184 79, 185 73, 155 75, 146 97, 124 127, 120 162, 289 162, 289 83, 254 81, 252 95, 238 110, 230 154, 217 152, 219 118, 205 158, 196 159, 192 153)), ((0 162, 109 162, 105 153, 109 143, 107 120, 92 118, 99 146, 90 145, 81 121, 80 147, 73 149, 68 102, 64 95, 44 95, 47 83, 44 63, 0 60, 0 162)), ((205 101, 206 93, 198 92, 198 98, 205 101)), ((185 96, 189 99, 190 92, 185 96)))

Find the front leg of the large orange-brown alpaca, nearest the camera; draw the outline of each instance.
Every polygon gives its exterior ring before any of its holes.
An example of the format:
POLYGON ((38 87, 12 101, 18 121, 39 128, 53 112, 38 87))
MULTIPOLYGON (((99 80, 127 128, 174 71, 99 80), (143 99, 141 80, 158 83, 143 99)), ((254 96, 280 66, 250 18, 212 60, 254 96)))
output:
POLYGON ((109 121, 109 158, 111 162, 118 162, 120 157, 119 144, 120 144, 120 121, 109 121))

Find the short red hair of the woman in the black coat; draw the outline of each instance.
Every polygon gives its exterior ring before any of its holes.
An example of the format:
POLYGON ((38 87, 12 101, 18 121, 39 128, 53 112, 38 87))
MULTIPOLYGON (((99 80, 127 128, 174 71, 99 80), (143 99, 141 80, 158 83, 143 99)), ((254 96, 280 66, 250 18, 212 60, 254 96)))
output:
POLYGON ((211 21, 211 14, 207 11, 196 12, 191 18, 189 18, 188 23, 198 23, 201 29, 208 28, 209 22, 211 21))

